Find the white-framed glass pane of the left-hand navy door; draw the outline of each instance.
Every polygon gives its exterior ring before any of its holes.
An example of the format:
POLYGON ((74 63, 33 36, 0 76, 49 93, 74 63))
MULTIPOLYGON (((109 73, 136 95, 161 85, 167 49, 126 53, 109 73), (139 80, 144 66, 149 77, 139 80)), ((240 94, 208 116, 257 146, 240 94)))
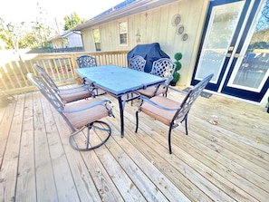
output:
POLYGON ((211 83, 220 82, 226 57, 233 52, 231 43, 244 5, 245 1, 239 1, 212 7, 195 80, 200 81, 214 73, 211 83))

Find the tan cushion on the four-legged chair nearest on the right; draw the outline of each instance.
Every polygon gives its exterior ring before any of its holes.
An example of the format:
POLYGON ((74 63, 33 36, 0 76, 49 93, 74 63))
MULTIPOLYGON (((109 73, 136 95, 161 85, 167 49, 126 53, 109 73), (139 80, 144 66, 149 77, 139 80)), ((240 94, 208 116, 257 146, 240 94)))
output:
MULTIPOLYGON (((170 109, 178 109, 180 106, 180 103, 178 101, 172 101, 163 96, 155 96, 151 98, 150 101, 154 101, 157 104, 170 109)), ((152 118, 163 122, 168 126, 170 125, 171 120, 173 119, 175 113, 177 112, 177 111, 166 111, 159 109, 158 107, 150 104, 147 101, 144 101, 143 104, 141 105, 141 111, 148 114, 152 118)))

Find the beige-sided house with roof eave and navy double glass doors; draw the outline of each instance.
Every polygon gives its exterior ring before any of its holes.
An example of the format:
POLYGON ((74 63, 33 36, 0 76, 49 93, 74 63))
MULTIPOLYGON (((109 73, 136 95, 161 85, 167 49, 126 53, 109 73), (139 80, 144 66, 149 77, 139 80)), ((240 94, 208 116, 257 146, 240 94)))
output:
POLYGON ((171 59, 183 54, 179 85, 213 72, 208 90, 265 105, 269 48, 261 44, 269 42, 256 35, 269 28, 268 10, 269 0, 129 0, 71 30, 82 33, 86 52, 159 43, 171 59), (248 53, 262 56, 246 67, 248 53))

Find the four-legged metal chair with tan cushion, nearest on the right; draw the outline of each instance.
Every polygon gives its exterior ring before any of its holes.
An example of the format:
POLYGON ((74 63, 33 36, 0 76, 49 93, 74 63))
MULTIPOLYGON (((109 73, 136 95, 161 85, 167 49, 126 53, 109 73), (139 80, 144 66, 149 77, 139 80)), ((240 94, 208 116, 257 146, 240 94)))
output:
MULTIPOLYGON (((171 131, 182 124, 185 121, 185 129, 187 134, 187 115, 191 109, 193 103, 197 100, 199 94, 205 89, 207 83, 212 79, 213 74, 208 75, 204 80, 198 82, 197 85, 192 87, 190 91, 186 92, 186 96, 183 101, 174 101, 164 96, 155 96, 148 98, 140 96, 141 102, 139 109, 136 111, 136 130, 139 128, 139 112, 142 111, 148 114, 150 117, 159 120, 169 127, 168 130, 168 147, 169 153, 172 153, 171 148, 171 131)), ((172 91, 178 91, 177 89, 169 87, 172 91)), ((183 91, 178 91, 183 92, 183 91)))

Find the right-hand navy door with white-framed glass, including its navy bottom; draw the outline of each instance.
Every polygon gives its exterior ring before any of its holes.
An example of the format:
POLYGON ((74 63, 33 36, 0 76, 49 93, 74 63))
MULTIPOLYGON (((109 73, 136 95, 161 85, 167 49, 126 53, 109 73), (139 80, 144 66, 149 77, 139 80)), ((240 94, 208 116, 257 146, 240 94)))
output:
POLYGON ((261 101, 269 85, 269 0, 246 25, 240 43, 222 92, 261 101))

